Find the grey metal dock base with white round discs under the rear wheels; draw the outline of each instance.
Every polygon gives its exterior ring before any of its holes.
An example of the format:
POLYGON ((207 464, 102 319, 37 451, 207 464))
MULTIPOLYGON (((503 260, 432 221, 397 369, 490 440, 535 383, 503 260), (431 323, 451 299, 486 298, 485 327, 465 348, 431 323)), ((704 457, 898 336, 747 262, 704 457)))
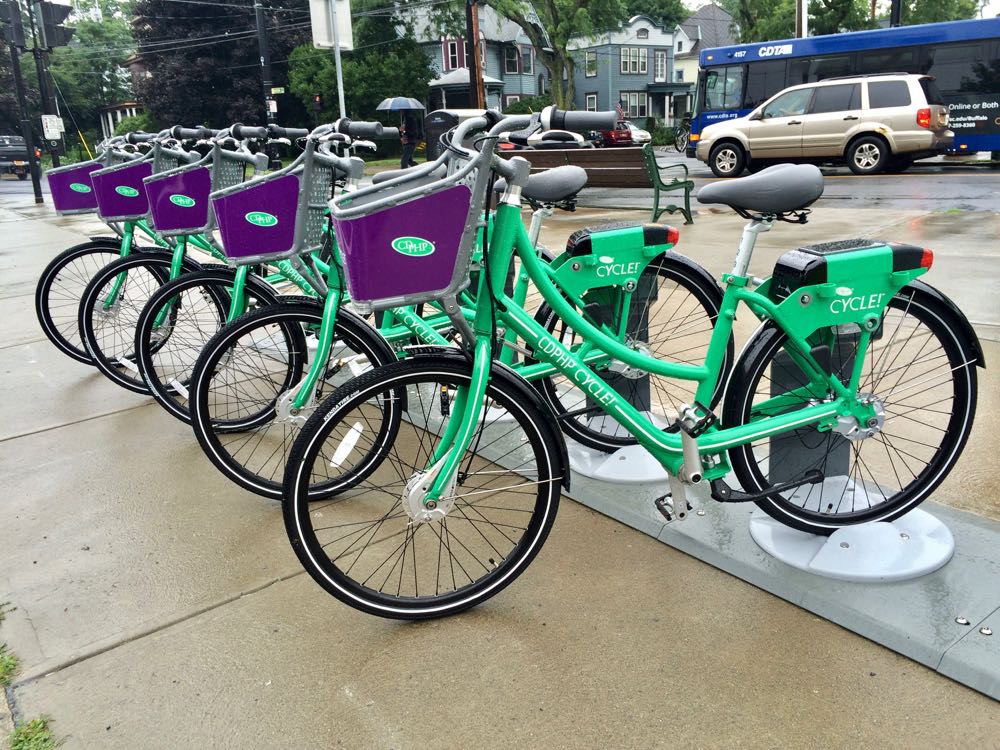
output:
POLYGON ((667 524, 653 504, 667 474, 642 447, 567 442, 572 499, 1000 700, 1000 524, 927 501, 817 536, 716 502, 704 482, 688 488, 687 518, 667 524))

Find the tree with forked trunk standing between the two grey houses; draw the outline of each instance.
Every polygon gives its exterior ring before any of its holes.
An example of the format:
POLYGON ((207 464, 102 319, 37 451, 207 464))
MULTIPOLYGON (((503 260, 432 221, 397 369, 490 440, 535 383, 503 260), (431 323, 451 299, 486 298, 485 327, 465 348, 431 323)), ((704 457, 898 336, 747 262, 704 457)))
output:
POLYGON ((573 56, 569 41, 618 26, 625 15, 622 0, 545 0, 533 12, 524 0, 486 0, 501 16, 520 26, 552 81, 552 98, 573 107, 573 56))

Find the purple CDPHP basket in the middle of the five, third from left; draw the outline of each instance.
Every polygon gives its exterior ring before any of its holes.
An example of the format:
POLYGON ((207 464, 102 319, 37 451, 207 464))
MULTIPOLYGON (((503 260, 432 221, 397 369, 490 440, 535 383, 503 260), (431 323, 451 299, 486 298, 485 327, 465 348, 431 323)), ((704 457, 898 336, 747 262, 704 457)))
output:
POLYGON ((208 167, 181 168, 145 180, 149 213, 161 234, 194 234, 208 225, 212 172, 208 167))

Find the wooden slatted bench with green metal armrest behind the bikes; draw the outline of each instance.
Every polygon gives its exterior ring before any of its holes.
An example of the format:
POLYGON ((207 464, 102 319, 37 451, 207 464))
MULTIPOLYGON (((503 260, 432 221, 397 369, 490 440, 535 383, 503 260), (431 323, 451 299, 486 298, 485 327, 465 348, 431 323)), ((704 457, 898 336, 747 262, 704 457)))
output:
POLYGON ((511 157, 521 156, 531 163, 532 172, 544 172, 546 169, 573 164, 582 167, 587 173, 587 187, 623 187, 623 188, 653 188, 652 221, 661 214, 675 211, 684 215, 685 223, 692 223, 691 189, 694 183, 688 179, 687 166, 670 164, 659 166, 653 149, 649 146, 622 148, 573 148, 573 149, 542 149, 507 152, 511 157), (680 172, 681 179, 669 178, 671 170, 680 172), (684 205, 669 204, 660 208, 660 193, 683 191, 684 205))

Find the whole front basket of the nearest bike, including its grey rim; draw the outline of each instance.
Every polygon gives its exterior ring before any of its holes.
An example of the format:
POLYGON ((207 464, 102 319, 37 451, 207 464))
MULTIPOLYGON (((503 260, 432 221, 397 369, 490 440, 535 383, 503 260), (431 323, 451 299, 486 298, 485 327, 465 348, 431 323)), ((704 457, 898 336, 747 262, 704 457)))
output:
POLYGON ((469 283, 479 214, 472 209, 473 191, 446 178, 411 200, 393 201, 412 188, 402 183, 366 191, 360 206, 349 197, 332 204, 347 287, 363 308, 450 297, 469 283))

